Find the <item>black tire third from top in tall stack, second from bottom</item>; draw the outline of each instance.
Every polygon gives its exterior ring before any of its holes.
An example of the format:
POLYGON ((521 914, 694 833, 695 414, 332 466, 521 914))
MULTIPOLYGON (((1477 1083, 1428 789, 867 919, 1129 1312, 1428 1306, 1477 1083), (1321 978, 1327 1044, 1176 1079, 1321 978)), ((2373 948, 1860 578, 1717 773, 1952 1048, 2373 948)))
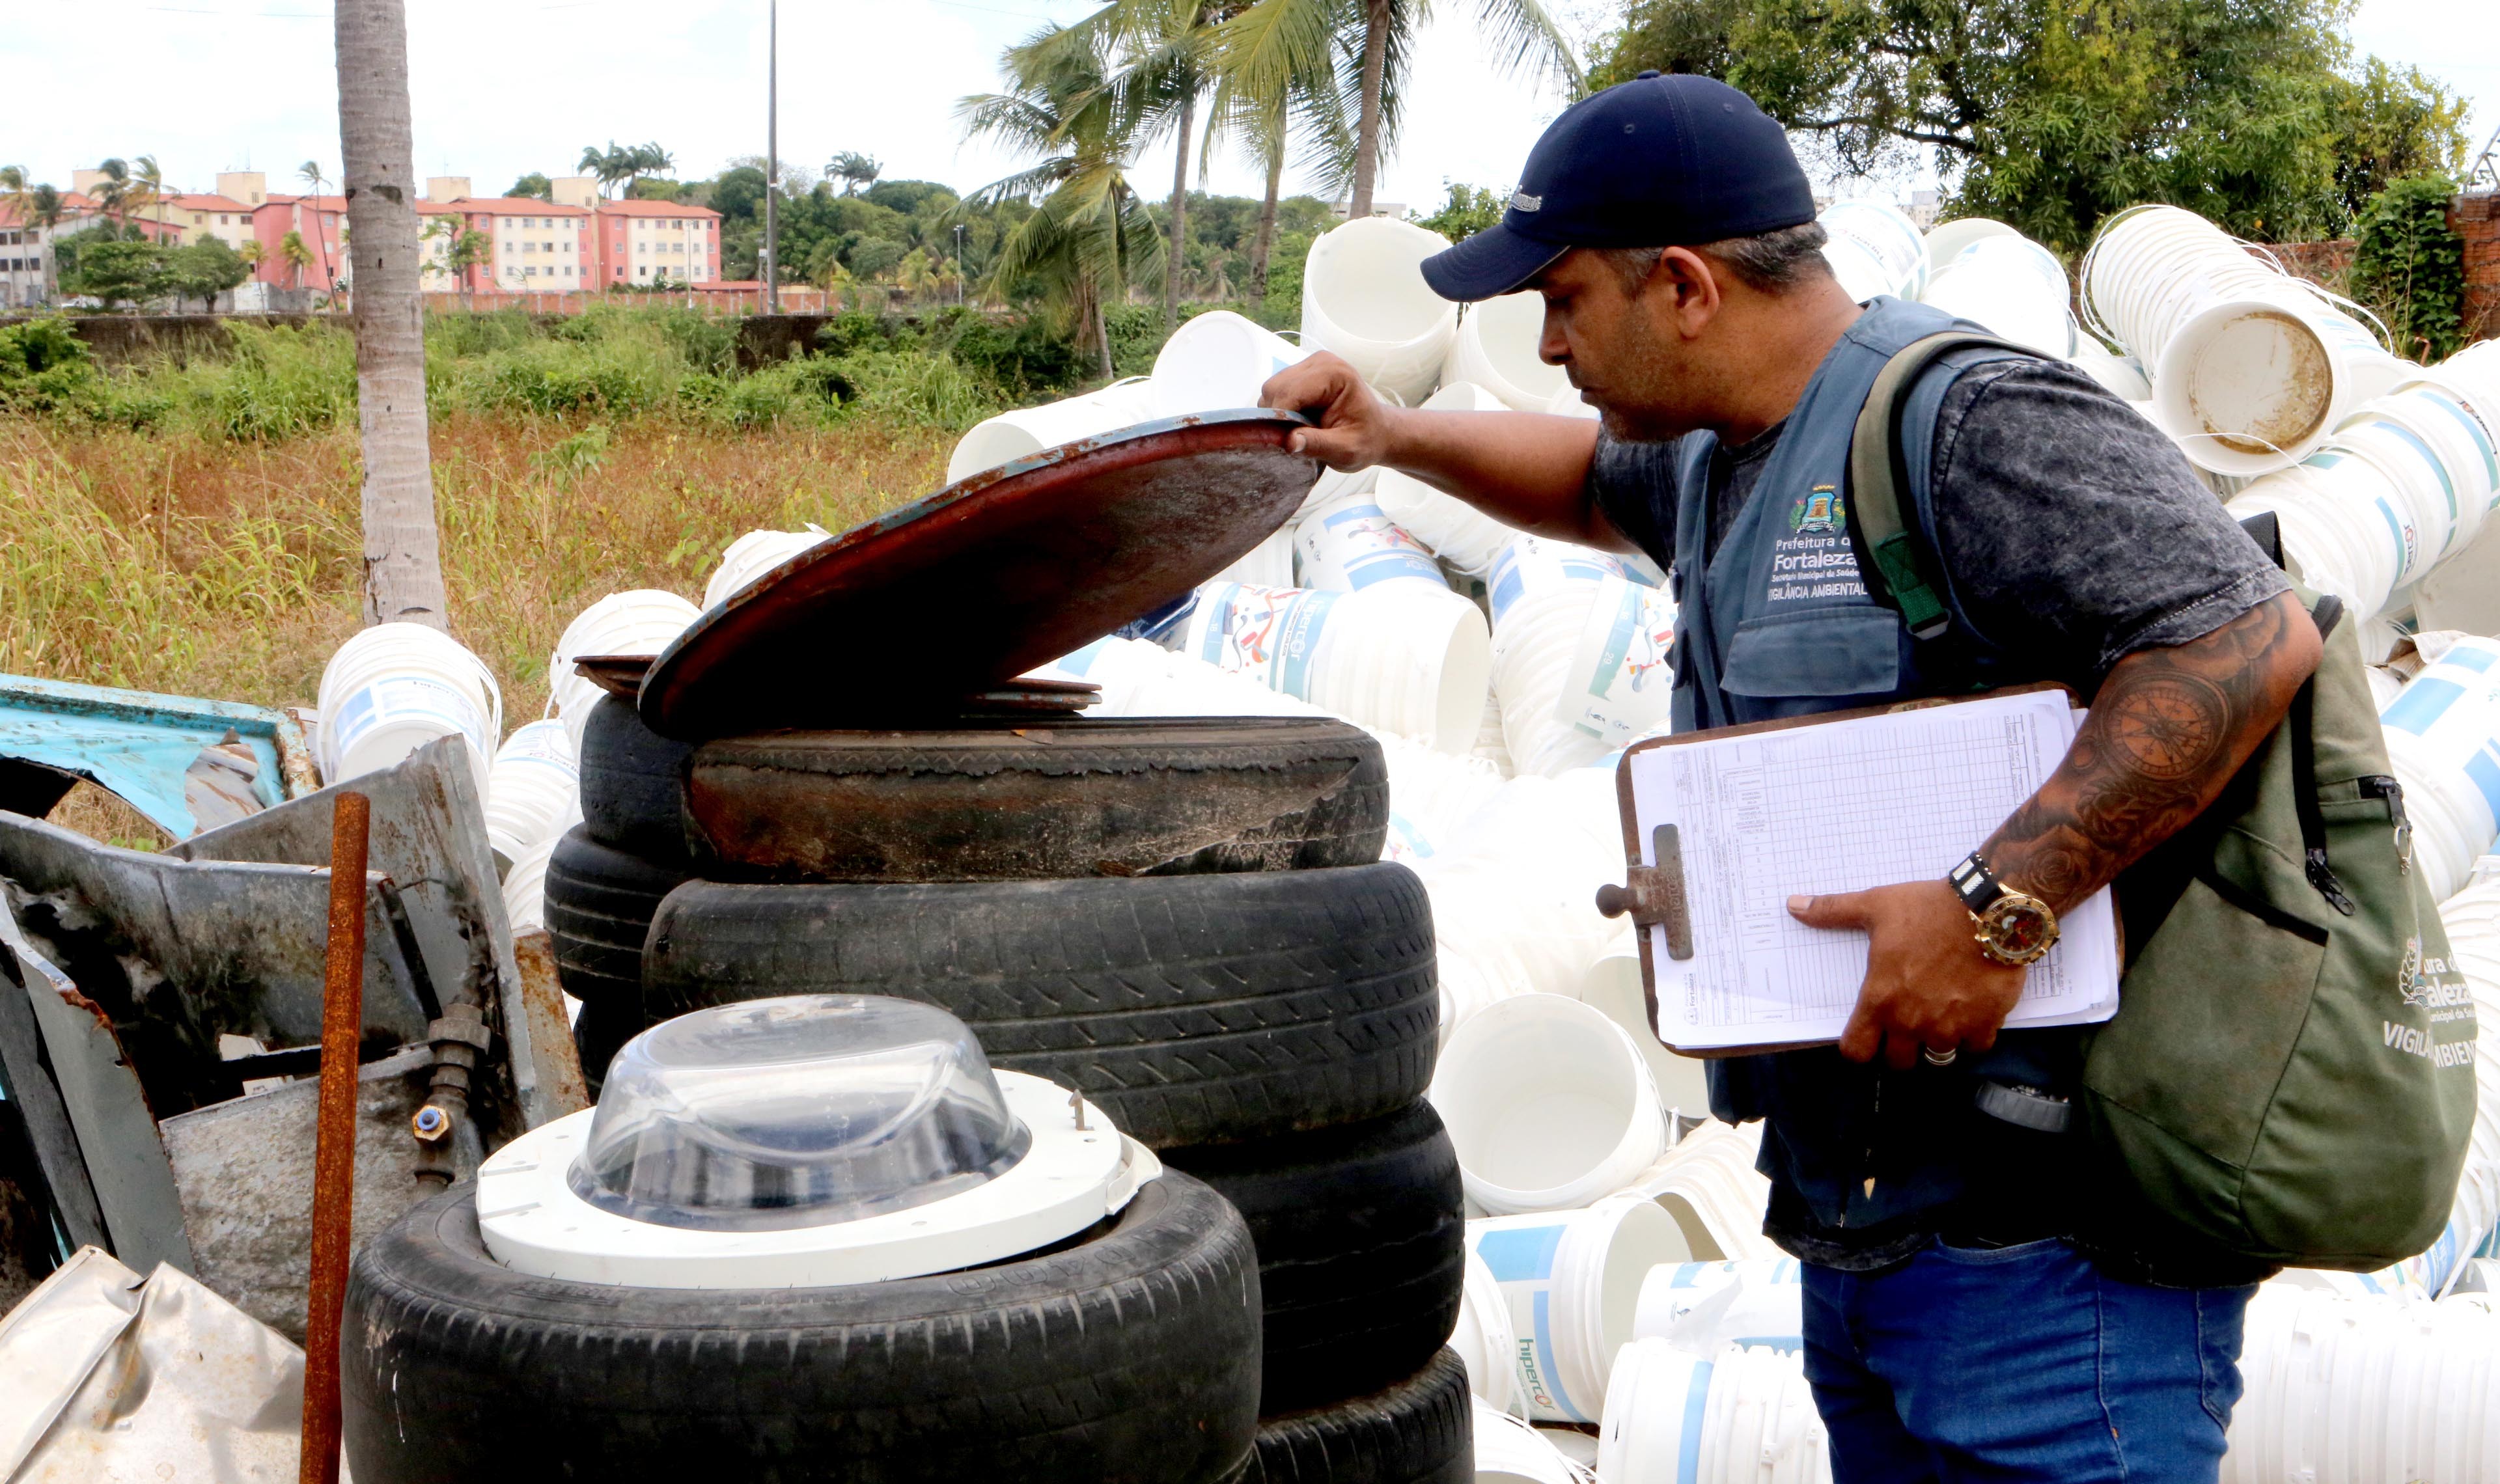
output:
POLYGON ((1165 1149, 1250 1222, 1265 1297, 1260 1412, 1415 1374, 1458 1324, 1468 1222, 1432 1104, 1250 1144, 1165 1149))

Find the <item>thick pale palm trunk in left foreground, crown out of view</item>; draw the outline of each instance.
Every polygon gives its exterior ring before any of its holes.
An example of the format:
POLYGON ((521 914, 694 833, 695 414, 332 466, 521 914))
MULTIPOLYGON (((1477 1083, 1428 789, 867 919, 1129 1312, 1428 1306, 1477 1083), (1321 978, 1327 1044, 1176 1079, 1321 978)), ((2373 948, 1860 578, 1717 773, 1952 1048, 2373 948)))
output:
POLYGON ((365 622, 420 622, 448 632, 432 452, 425 442, 425 300, 418 292, 402 0, 338 0, 338 137, 350 250, 358 257, 365 622))

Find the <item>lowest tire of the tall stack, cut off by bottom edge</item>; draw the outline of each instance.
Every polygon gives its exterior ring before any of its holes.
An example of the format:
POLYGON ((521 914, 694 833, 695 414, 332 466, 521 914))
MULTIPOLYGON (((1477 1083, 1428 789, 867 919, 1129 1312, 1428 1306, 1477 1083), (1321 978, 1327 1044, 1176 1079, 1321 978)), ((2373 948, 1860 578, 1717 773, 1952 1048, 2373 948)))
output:
MULTIPOLYGON (((362 1479, 362 1474, 358 1474, 362 1479)), ((1442 1349, 1412 1377, 1258 1424, 1240 1484, 1470 1484, 1475 1412, 1468 1367, 1442 1349)))

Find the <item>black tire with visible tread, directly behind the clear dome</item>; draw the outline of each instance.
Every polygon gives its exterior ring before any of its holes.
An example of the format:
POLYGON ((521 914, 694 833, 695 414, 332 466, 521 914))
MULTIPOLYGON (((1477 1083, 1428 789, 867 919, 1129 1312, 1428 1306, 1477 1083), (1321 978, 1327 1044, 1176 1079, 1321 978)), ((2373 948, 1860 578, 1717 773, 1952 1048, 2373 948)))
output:
POLYGON ((1398 1112, 1440 1042, 1432 909, 1402 864, 1220 877, 738 887, 662 902, 652 1019, 770 994, 938 1004, 998 1067, 1168 1149, 1398 1112))

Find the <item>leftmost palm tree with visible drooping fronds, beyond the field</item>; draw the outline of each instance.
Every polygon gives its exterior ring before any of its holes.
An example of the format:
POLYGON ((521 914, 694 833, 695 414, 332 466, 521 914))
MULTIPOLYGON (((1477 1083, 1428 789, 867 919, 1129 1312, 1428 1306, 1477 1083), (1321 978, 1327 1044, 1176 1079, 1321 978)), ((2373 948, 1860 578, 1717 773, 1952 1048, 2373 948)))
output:
POLYGON ((1008 92, 978 92, 958 105, 965 137, 990 135, 1042 160, 970 197, 965 212, 1030 200, 1032 215, 998 245, 990 292, 1038 280, 1078 345, 1092 345, 1112 375, 1105 305, 1130 282, 1165 272, 1162 235, 1120 165, 1132 117, 1122 117, 1098 27, 1048 25, 1008 47, 1008 92))

